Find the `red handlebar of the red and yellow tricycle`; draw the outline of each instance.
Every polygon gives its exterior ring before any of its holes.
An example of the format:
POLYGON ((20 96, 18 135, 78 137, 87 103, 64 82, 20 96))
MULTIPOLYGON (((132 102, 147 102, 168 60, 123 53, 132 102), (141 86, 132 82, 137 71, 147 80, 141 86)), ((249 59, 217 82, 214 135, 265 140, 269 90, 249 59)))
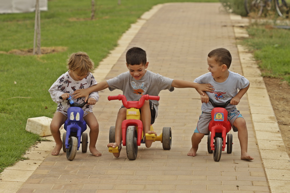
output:
POLYGON ((127 101, 126 96, 124 95, 117 95, 117 96, 108 96, 108 100, 122 100, 123 105, 127 108, 136 108, 140 109, 145 100, 159 100, 159 96, 151 96, 151 95, 142 95, 139 101, 127 101))

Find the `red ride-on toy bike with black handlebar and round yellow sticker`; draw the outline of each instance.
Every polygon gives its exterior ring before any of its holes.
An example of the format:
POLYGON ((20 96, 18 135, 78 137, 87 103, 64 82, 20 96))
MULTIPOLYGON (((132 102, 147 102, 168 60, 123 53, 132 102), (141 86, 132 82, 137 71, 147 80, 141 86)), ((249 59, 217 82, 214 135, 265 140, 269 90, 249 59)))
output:
POLYGON ((227 119, 228 111, 225 109, 231 100, 228 100, 226 103, 220 103, 213 102, 213 100, 209 99, 209 102, 211 102, 214 108, 211 111, 212 120, 209 123, 209 131, 211 133, 207 136, 207 151, 213 153, 213 159, 215 161, 220 161, 222 151, 224 151, 225 147, 227 153, 231 153, 233 149, 233 135, 229 133, 231 123, 227 119))

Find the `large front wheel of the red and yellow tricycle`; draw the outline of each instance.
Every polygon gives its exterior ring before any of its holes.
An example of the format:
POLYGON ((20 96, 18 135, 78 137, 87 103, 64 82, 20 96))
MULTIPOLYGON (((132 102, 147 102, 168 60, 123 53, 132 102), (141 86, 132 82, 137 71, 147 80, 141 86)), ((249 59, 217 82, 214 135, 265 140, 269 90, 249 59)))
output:
POLYGON ((138 146, 137 146, 137 130, 135 126, 128 126, 127 128, 126 152, 128 159, 135 160, 137 158, 138 146))

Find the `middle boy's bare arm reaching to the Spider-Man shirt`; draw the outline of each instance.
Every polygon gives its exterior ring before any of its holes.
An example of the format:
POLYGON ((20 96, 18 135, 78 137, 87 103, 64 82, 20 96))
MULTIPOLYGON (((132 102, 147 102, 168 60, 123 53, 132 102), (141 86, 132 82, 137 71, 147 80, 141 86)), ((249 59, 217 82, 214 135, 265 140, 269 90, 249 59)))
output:
POLYGON ((214 90, 211 84, 199 84, 185 80, 173 80, 171 86, 175 88, 195 88, 200 95, 204 95, 203 91, 212 92, 214 90))

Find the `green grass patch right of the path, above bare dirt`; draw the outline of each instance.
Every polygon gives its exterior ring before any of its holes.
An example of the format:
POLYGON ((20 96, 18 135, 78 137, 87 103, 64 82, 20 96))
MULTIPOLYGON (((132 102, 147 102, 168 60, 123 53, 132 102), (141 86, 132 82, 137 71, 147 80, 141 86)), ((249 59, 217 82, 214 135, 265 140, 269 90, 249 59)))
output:
POLYGON ((262 70, 262 76, 287 80, 290 84, 290 30, 252 24, 244 39, 262 70))

